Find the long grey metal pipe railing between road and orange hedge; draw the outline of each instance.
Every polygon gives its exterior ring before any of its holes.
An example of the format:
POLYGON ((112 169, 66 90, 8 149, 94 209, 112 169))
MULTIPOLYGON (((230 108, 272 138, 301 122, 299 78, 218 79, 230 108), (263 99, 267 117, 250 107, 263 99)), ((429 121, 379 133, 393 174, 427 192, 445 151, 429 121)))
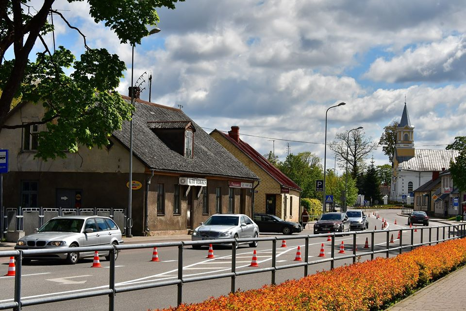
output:
POLYGON ((443 225, 438 227, 421 227, 417 228, 420 230, 420 243, 414 244, 414 230, 416 228, 402 228, 402 229, 390 229, 390 230, 372 230, 372 231, 363 231, 363 232, 345 232, 345 233, 322 233, 316 235, 298 235, 298 236, 286 236, 287 240, 305 240, 304 245, 304 261, 299 263, 293 264, 286 264, 277 266, 276 265, 276 250, 277 250, 277 240, 282 240, 282 238, 277 237, 267 237, 267 238, 255 238, 255 239, 225 239, 222 241, 218 240, 210 240, 210 241, 186 241, 186 242, 161 242, 161 243, 144 243, 144 244, 131 244, 131 245, 106 245, 106 246, 99 246, 99 247, 76 247, 73 248, 75 252, 86 252, 86 251, 110 251, 110 269, 109 269, 109 288, 102 289, 102 290, 93 290, 89 292, 83 293, 74 293, 74 294, 61 294, 61 295, 54 295, 53 297, 40 297, 40 298, 32 298, 32 299, 21 299, 21 267, 22 267, 22 259, 24 255, 33 255, 33 254, 59 254, 64 253, 63 249, 61 251, 54 250, 54 249, 41 249, 41 250, 14 250, 14 251, 2 251, 0 252, 0 257, 15 257, 16 259, 16 276, 15 276, 15 297, 13 302, 1 303, 0 310, 5 309, 13 309, 13 310, 20 310, 21 307, 26 306, 33 306, 51 302, 58 302, 58 301, 66 301, 72 299, 79 299, 79 298, 87 298, 87 297, 95 297, 95 296, 102 296, 108 295, 109 296, 109 311, 115 310, 115 294, 117 293, 125 293, 137 290, 144 290, 150 288, 157 288, 157 287, 164 287, 170 285, 177 285, 177 302, 178 305, 181 304, 183 300, 183 284, 191 283, 191 282, 198 282, 210 279, 218 279, 218 278, 230 278, 231 279, 231 292, 235 291, 235 279, 237 276, 244 276, 250 275, 255 273, 263 273, 263 272, 270 272, 271 273, 271 284, 275 284, 275 273, 278 270, 283 269, 290 269, 290 268, 297 268, 303 267, 304 268, 304 276, 308 275, 308 267, 310 265, 330 262, 330 269, 333 269, 334 262, 336 260, 342 259, 352 259, 353 263, 356 262, 356 258, 362 256, 370 256, 370 259, 374 259, 374 255, 378 253, 385 253, 386 257, 389 257, 390 252, 397 251, 401 254, 403 249, 413 249, 414 247, 421 246, 421 245, 431 245, 433 243, 444 242, 452 239, 459 239, 465 237, 465 229, 466 224, 460 225, 443 225), (445 229, 448 229, 448 236, 446 236, 445 229), (403 230, 411 231, 411 240, 409 244, 403 245, 403 230), (390 247, 390 232, 397 232, 399 231, 399 243, 398 246, 390 247), (429 240, 424 242, 424 231, 428 232, 429 240), (433 238, 433 231, 436 233, 436 240, 432 240, 433 238), (356 249, 356 237, 358 234, 370 234, 371 236, 371 246, 370 251, 367 252, 358 252, 356 249), (386 235, 386 248, 374 250, 374 236, 375 234, 385 234, 386 235), (338 256, 335 257, 335 237, 340 237, 343 235, 352 235, 352 254, 345 255, 345 256, 338 256), (330 258, 319 259, 309 261, 309 239, 315 238, 327 238, 331 236, 332 239, 332 251, 330 258), (252 241, 271 241, 272 242, 272 266, 268 268, 261 268, 256 270, 246 270, 246 271, 236 271, 236 244, 242 242, 252 242, 252 241), (210 276, 198 276, 198 277, 183 277, 183 248, 184 246, 189 245, 208 245, 211 244, 223 244, 223 243, 232 243, 232 270, 229 273, 221 273, 221 274, 213 274, 210 276), (166 281, 159 281, 148 283, 144 285, 132 285, 132 286, 122 286, 116 287, 115 286, 115 252, 119 250, 128 250, 128 249, 140 249, 140 248, 153 248, 153 247, 178 247, 178 277, 177 279, 173 280, 166 280, 166 281))

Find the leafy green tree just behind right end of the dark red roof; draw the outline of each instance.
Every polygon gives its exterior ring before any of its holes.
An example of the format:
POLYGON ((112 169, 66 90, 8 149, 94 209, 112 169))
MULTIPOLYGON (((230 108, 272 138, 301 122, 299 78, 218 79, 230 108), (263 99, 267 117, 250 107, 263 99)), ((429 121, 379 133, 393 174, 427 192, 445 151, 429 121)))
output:
POLYGON ((323 175, 318 156, 311 152, 289 154, 279 163, 278 168, 301 187, 301 197, 321 199, 322 193, 316 192, 316 180, 321 179, 323 175))

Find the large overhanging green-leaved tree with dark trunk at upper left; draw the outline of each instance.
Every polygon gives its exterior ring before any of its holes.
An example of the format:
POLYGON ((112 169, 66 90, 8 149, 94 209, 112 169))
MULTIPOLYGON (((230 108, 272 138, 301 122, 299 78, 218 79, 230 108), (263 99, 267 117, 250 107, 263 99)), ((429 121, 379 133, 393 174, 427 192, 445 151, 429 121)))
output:
MULTIPOLYGON (((68 0, 76 2, 83 0, 68 0)), ((120 43, 136 45, 149 35, 146 25, 156 25, 156 8, 174 9, 178 0, 87 0, 89 14, 96 23, 104 22, 118 36, 120 43)), ((180 0, 184 1, 184 0, 180 0)), ((106 49, 91 49, 85 35, 66 17, 52 9, 55 0, 38 1, 40 9, 26 0, 0 0, 0 131, 45 124, 39 133, 36 157, 65 157, 64 150, 76 152, 78 145, 102 147, 111 133, 131 119, 133 107, 116 93, 125 64, 106 49), (44 35, 53 31, 47 21, 52 13, 83 37, 85 52, 80 59, 65 47, 53 53, 44 35), (34 45, 43 46, 34 61, 30 53, 34 45), (10 48, 14 58, 5 60, 10 48), (67 76, 64 68, 73 69, 67 76), (42 104, 45 116, 40 121, 5 125, 12 101, 42 104)))

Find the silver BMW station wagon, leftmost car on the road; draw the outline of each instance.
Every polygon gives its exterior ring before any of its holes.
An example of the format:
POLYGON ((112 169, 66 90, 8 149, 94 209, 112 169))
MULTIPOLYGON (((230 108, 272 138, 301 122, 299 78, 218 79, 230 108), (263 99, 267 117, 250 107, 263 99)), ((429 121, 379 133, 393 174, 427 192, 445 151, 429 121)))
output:
MULTIPOLYGON (((32 259, 66 259, 75 264, 79 259, 93 257, 94 251, 78 253, 72 248, 81 246, 118 245, 123 243, 121 231, 116 223, 108 217, 100 216, 59 216, 50 219, 37 232, 22 237, 15 249, 63 249, 62 254, 37 254, 23 256, 23 262, 32 259)), ((109 260, 110 252, 99 255, 109 260)), ((115 254, 115 259, 118 252, 115 254)))

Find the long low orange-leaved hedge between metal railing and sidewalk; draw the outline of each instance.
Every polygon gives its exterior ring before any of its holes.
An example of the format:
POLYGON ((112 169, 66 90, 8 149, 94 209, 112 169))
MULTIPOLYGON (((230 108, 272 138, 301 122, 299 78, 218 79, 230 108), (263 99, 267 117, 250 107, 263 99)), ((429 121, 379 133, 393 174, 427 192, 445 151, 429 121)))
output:
POLYGON ((236 292, 170 311, 381 310, 466 263, 466 239, 422 246, 394 258, 377 258, 322 271, 280 285, 236 292))

